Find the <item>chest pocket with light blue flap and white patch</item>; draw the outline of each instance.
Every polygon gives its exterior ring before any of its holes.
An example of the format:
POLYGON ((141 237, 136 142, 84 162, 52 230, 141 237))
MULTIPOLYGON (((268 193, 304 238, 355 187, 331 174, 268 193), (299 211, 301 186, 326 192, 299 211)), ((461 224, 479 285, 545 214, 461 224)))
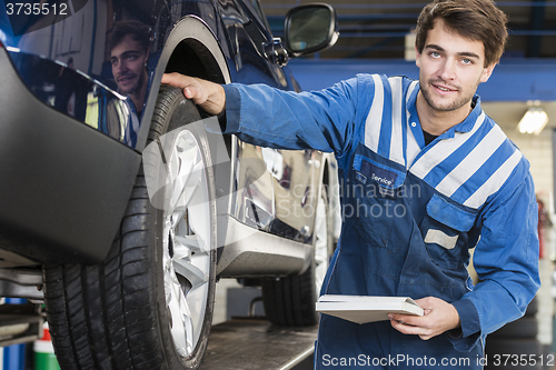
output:
POLYGON ((427 203, 420 224, 425 246, 433 262, 443 269, 460 268, 468 258, 468 234, 477 211, 453 204, 438 194, 427 203))

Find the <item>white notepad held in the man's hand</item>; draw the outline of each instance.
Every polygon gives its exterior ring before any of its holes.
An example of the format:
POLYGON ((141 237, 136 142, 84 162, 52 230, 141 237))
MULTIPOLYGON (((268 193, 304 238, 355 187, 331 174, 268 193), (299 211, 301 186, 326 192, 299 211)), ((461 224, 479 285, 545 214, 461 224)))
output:
POLYGON ((317 312, 356 323, 389 320, 388 313, 424 314, 424 310, 408 297, 335 294, 320 297, 317 312))

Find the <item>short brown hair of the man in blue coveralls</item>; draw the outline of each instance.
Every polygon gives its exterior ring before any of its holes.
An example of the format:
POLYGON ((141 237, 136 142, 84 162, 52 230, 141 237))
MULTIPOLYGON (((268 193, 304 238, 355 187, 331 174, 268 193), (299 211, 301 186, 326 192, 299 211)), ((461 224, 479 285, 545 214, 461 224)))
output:
POLYGON ((485 46, 485 67, 497 63, 506 46, 508 18, 490 0, 435 0, 417 20, 415 46, 423 52, 428 31, 436 19, 457 34, 485 46))

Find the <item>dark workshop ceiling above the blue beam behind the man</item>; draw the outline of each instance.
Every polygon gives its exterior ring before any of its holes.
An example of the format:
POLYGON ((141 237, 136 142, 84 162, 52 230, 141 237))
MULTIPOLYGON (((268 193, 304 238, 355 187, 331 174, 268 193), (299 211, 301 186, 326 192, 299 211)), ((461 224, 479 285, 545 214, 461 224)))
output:
MULTIPOLYGON (((310 0, 262 0, 274 33, 284 16, 310 0)), ((340 38, 319 58, 404 58, 405 36, 414 28, 425 1, 325 1, 338 13, 340 38)), ((497 6, 509 17, 510 38, 504 58, 556 58, 556 0, 507 0, 497 6)))

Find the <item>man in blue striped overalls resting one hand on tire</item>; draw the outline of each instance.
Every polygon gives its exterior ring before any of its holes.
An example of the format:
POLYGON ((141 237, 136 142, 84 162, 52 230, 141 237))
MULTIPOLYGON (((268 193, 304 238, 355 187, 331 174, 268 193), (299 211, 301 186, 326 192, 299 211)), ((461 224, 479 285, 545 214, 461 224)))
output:
POLYGON ((346 214, 322 293, 403 296, 425 316, 355 324, 322 316, 316 368, 480 369, 486 336, 539 287, 529 164, 475 96, 506 17, 489 0, 435 0, 417 22, 419 81, 365 76, 309 93, 179 74, 226 132, 259 146, 334 151, 346 214), (470 248, 481 279, 467 272, 470 248))

